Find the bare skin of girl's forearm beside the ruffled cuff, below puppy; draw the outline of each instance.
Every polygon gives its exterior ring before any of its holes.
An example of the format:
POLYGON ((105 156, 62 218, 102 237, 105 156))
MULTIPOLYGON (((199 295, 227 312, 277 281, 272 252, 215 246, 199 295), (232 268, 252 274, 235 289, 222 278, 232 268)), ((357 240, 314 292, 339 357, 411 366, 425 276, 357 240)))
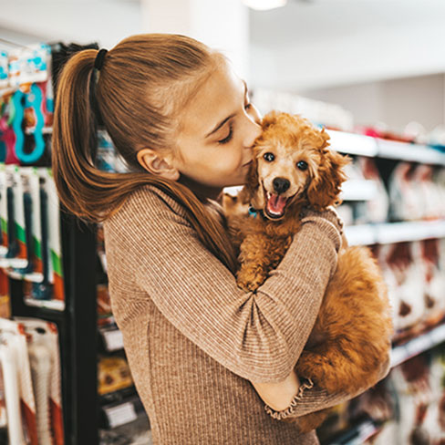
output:
POLYGON ((288 408, 300 388, 300 380, 295 374, 295 370, 292 370, 289 376, 281 382, 251 383, 264 403, 275 411, 288 408))

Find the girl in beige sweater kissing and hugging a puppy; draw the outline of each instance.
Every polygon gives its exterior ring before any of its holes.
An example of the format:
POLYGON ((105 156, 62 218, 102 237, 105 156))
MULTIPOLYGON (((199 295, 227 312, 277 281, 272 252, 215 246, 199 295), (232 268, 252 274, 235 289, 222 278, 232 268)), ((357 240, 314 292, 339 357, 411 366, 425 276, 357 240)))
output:
POLYGON ((243 184, 259 134, 245 82, 186 36, 81 51, 60 76, 57 189, 71 212, 104 222, 113 314, 155 443, 314 444, 281 419, 344 399, 293 371, 336 268, 336 213, 308 212, 264 285, 236 286, 214 200, 243 184), (129 173, 95 167, 98 123, 129 173))

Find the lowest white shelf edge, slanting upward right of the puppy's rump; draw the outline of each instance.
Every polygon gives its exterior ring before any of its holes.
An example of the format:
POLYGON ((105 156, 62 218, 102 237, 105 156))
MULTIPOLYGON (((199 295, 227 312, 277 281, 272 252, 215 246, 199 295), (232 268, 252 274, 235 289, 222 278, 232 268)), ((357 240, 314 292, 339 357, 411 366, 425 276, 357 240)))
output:
POLYGON ((393 347, 391 350, 391 367, 397 367, 411 357, 418 356, 432 347, 445 341, 445 325, 437 326, 425 334, 416 336, 408 343, 393 347))

